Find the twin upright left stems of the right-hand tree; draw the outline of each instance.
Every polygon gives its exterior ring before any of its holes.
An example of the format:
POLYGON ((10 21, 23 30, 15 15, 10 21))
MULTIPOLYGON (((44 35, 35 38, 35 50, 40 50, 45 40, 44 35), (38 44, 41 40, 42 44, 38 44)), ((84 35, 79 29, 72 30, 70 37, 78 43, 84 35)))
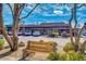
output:
POLYGON ((72 9, 72 16, 70 18, 70 38, 71 38, 71 43, 73 44, 73 48, 75 50, 75 52, 77 52, 78 50, 78 44, 77 44, 77 30, 76 30, 76 25, 77 25, 77 21, 76 21, 76 3, 74 4, 74 8, 72 9), (72 34, 72 20, 74 18, 75 21, 75 25, 74 25, 74 39, 73 39, 73 34, 72 34))

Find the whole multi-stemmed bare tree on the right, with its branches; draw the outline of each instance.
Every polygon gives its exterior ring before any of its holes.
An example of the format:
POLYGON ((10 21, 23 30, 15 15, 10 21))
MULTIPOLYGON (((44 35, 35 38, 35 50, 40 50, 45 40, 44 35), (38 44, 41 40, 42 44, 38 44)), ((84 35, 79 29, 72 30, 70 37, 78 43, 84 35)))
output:
POLYGON ((72 13, 72 15, 71 15, 71 18, 70 18, 70 21, 69 21, 69 24, 70 24, 70 38, 71 38, 71 43, 73 44, 73 47, 74 47, 74 50, 75 50, 75 52, 77 52, 77 51, 79 51, 81 52, 81 50, 82 50, 82 46, 81 46, 81 42, 79 42, 79 40, 81 40, 81 35, 82 35, 82 31, 83 31, 83 29, 85 28, 85 25, 81 28, 81 30, 78 31, 78 34, 77 34, 77 28, 76 28, 76 26, 77 26, 77 20, 76 20, 76 9, 79 9, 79 8, 82 8, 82 7, 84 7, 84 5, 86 5, 86 4, 81 4, 79 7, 77 7, 77 4, 76 3, 74 3, 74 7, 72 8, 72 11, 71 11, 71 13, 72 13), (74 18, 74 22, 75 22, 75 25, 74 25, 74 38, 73 38, 73 34, 72 34, 72 20, 74 18))

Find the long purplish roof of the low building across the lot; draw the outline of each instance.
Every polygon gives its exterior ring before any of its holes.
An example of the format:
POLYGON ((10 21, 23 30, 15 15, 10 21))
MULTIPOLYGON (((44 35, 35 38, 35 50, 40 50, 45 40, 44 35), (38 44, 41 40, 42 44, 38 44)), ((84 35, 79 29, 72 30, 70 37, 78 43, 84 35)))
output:
MULTIPOLYGON (((27 28, 60 28, 66 29, 69 28, 69 24, 65 23, 41 23, 40 25, 20 25, 20 27, 27 27, 27 28)), ((8 26, 11 27, 11 26, 8 26)))

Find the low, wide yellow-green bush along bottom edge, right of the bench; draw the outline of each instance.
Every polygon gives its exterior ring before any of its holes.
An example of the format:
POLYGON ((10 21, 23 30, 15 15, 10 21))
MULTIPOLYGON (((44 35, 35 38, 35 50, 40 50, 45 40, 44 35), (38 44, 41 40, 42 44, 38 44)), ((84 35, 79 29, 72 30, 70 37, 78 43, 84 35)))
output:
POLYGON ((50 53, 48 56, 48 60, 50 61, 86 61, 86 57, 74 51, 70 51, 69 53, 50 53))

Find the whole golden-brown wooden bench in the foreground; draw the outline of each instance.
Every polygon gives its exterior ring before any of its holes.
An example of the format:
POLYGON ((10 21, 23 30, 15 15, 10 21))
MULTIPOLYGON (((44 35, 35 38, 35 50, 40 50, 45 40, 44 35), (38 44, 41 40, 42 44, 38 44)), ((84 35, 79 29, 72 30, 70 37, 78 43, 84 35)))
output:
POLYGON ((23 50, 23 59, 36 52, 57 52, 57 43, 52 41, 28 41, 26 48, 23 50))

